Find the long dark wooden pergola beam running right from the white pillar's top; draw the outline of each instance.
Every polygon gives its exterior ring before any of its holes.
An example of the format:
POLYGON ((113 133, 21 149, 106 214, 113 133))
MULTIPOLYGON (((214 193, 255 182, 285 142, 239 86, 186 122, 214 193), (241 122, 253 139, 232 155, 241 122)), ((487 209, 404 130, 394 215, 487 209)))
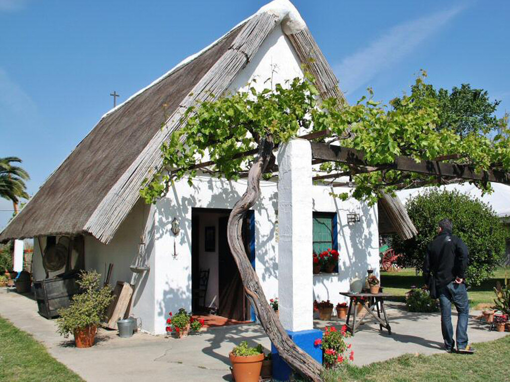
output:
POLYGON ((510 174, 500 170, 488 170, 480 173, 468 165, 443 163, 438 160, 416 162, 413 158, 406 156, 398 156, 392 163, 373 166, 364 159, 364 153, 360 150, 316 142, 311 142, 311 145, 313 159, 347 163, 359 167, 375 167, 379 170, 398 170, 431 176, 510 184, 510 174))

